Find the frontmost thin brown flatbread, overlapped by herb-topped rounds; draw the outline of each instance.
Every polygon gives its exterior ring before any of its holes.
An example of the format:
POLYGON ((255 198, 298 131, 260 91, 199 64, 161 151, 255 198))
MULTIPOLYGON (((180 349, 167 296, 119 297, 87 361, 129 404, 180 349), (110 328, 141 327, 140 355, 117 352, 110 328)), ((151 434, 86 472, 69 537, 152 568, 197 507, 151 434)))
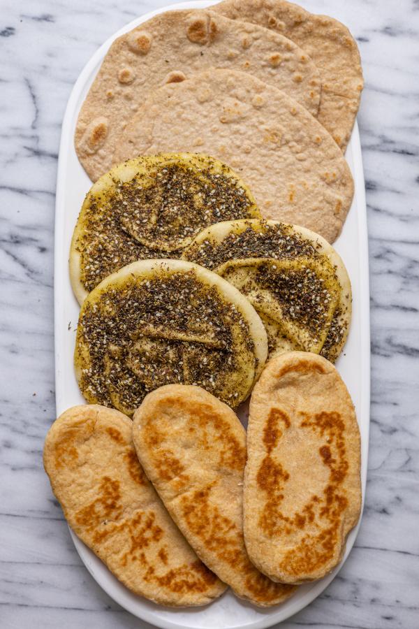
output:
POLYGON ((246 73, 206 71, 156 89, 113 161, 169 150, 221 159, 249 185, 263 217, 329 243, 351 207, 351 171, 332 136, 290 96, 246 73))

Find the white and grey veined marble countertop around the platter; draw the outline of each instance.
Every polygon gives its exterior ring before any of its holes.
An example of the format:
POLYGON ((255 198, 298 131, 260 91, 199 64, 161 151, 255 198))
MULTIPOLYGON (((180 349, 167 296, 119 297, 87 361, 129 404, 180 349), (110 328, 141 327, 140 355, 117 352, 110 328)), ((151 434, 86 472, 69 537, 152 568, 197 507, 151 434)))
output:
MULTIPOLYGON (((112 32, 165 0, 1 0, 0 626, 147 627, 82 565, 43 472, 54 419, 53 231, 61 121, 112 32)), ((167 3, 167 0, 166 0, 167 3)), ((358 39, 372 415, 365 512, 337 578, 286 629, 419 627, 419 3, 304 0, 358 39)))

